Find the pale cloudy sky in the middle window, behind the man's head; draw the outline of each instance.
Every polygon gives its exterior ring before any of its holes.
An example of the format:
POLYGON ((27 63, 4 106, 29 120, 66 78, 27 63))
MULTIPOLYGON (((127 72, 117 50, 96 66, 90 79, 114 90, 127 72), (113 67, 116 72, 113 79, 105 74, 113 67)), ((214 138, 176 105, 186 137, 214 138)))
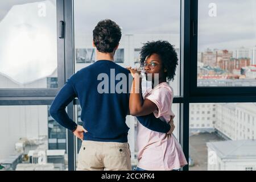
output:
POLYGON ((124 34, 180 31, 179 0, 76 0, 75 30, 92 32, 97 22, 113 19, 124 34))

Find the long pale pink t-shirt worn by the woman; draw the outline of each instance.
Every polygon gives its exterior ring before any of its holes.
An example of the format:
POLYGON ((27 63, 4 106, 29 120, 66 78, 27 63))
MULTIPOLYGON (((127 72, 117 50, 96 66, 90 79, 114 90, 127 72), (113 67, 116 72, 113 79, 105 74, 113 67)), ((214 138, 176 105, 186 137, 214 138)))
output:
MULTIPOLYGON (((143 94, 158 106, 154 111, 156 118, 163 122, 170 121, 175 114, 171 110, 174 98, 173 90, 167 82, 162 82, 154 89, 147 89, 143 94)), ((137 131, 138 167, 149 171, 169 171, 187 165, 183 150, 175 136, 158 133, 147 129, 138 122, 137 131)))

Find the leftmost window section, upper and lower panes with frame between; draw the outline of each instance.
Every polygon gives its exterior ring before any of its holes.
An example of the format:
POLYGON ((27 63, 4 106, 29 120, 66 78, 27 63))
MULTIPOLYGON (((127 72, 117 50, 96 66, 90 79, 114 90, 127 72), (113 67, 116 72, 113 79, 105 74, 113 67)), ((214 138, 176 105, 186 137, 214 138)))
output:
POLYGON ((49 115, 65 80, 63 19, 62 0, 0 2, 2 170, 68 169, 67 130, 49 115))

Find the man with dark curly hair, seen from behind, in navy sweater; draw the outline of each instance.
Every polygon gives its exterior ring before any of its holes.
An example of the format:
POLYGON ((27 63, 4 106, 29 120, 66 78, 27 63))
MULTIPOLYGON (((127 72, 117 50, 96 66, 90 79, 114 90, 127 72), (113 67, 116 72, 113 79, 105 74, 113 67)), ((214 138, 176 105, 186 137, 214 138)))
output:
MULTIPOLYGON (((129 91, 115 92, 118 86, 115 78, 122 74, 128 80, 130 73, 114 63, 114 53, 121 36, 121 28, 112 20, 98 22, 93 30, 96 63, 72 75, 49 110, 60 125, 82 140, 78 170, 131 170, 131 154, 127 143, 129 127, 125 123, 129 113, 129 91), (105 81, 106 84, 101 85, 105 81), (80 101, 83 126, 77 125, 65 111, 65 107, 75 97, 80 101)), ((129 82, 123 87, 129 89, 129 82)), ((138 120, 150 130, 172 132, 170 125, 152 114, 138 117, 138 120)))

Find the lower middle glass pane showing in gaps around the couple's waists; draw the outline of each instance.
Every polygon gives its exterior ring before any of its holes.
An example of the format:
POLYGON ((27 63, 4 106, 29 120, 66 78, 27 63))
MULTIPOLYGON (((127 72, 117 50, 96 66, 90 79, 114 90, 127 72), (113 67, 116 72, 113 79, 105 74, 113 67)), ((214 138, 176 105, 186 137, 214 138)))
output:
MULTIPOLYGON (((79 125, 82 125, 81 121, 81 106, 76 105, 76 122, 79 125)), ((173 104, 172 105, 172 111, 175 113, 175 118, 174 118, 174 125, 175 125, 175 130, 174 130, 174 135, 179 141, 179 130, 180 130, 180 125, 179 125, 179 104, 173 104)), ((137 118, 133 117, 131 115, 127 115, 126 117, 126 124, 130 128, 129 133, 128 133, 128 143, 130 145, 130 151, 131 151, 131 163, 133 169, 136 168, 138 164, 138 159, 137 159, 137 154, 138 154, 138 148, 137 148, 137 118)), ((82 141, 80 139, 76 139, 76 154, 78 156, 80 147, 81 147, 82 141)), ((76 158, 76 165, 77 165, 77 158, 76 158)))

